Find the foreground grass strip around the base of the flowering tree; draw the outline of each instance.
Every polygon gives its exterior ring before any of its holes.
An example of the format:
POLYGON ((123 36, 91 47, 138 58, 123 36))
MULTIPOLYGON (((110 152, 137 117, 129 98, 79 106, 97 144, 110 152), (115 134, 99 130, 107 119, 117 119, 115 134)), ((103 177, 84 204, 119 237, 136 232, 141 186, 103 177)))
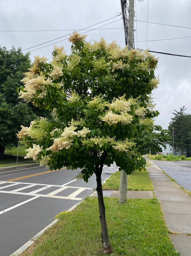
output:
MULTIPOLYGON (((169 238, 159 201, 105 197, 110 256, 178 256, 169 238)), ((98 198, 88 197, 72 212, 62 212, 59 221, 21 256, 103 255, 98 198)))

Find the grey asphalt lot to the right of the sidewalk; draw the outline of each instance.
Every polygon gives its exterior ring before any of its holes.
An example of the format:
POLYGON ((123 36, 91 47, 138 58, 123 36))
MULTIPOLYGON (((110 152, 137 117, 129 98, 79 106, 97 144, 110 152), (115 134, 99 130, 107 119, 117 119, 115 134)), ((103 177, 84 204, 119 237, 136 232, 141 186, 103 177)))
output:
POLYGON ((191 161, 152 161, 180 186, 191 192, 191 161))

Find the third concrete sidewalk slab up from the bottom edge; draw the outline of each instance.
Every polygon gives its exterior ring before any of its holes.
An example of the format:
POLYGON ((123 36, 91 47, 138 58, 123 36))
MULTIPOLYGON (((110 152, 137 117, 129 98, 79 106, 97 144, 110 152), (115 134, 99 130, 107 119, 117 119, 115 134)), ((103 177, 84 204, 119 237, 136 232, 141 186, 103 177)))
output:
POLYGON ((160 201, 161 208, 166 214, 191 214, 190 202, 160 201))

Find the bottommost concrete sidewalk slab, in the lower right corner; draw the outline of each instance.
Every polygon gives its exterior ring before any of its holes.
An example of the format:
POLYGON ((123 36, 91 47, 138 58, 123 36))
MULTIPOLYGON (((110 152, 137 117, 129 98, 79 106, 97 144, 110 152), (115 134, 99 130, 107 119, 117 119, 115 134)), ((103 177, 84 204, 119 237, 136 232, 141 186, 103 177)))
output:
POLYGON ((191 236, 170 234, 170 238, 177 252, 181 252, 181 256, 191 255, 191 236))

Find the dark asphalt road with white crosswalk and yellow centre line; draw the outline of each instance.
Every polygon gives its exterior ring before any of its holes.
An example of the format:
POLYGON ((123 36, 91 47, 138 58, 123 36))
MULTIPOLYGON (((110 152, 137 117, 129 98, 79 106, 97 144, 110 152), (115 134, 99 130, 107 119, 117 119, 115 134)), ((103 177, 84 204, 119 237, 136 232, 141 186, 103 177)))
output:
MULTIPOLYGON (((104 166, 102 182, 118 168, 104 166)), ((61 211, 92 194, 93 175, 88 183, 76 180, 80 170, 45 167, 14 167, 0 170, 0 255, 9 256, 48 226, 61 211)))

